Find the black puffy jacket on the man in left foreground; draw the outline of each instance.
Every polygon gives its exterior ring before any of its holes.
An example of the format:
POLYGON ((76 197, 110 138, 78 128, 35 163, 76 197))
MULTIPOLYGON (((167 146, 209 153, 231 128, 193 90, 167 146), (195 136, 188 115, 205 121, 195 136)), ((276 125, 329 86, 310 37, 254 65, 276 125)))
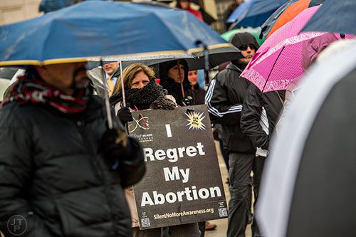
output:
POLYGON ((26 219, 23 236, 132 236, 123 186, 143 176, 142 148, 130 139, 130 158, 111 170, 98 152, 105 124, 103 101, 94 96, 76 117, 33 104, 0 111, 0 231, 6 237, 14 215, 26 219))

